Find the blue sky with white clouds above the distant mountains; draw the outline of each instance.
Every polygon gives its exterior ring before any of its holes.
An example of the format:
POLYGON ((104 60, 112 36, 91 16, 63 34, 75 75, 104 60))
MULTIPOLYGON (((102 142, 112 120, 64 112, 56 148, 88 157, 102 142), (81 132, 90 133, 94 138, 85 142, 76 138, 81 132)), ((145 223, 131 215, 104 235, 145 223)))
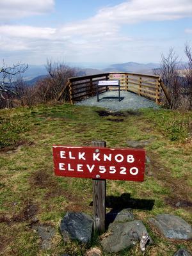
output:
POLYGON ((0 0, 0 61, 159 63, 186 60, 192 0, 0 0))

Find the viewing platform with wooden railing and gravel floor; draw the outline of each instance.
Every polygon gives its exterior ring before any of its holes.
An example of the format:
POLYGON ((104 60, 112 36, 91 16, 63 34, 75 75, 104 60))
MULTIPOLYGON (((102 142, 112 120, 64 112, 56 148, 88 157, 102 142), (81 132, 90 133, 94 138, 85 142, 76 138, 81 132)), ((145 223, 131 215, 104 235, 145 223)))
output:
POLYGON ((107 107, 106 104, 113 101, 113 104, 118 104, 119 109, 124 109, 124 107, 121 108, 120 106, 126 106, 126 108, 134 106, 134 109, 137 109, 136 107, 140 108, 140 105, 141 108, 145 108, 145 106, 154 108, 161 105, 163 97, 166 97, 168 102, 171 103, 170 96, 160 76, 127 72, 110 72, 92 76, 71 77, 68 79, 66 86, 61 90, 58 100, 63 96, 71 104, 77 102, 84 104, 84 100, 86 100, 87 106, 107 107), (97 95, 98 82, 113 80, 120 81, 120 101, 118 102, 118 99, 116 99, 118 92, 115 91, 115 88, 113 86, 106 86, 98 89, 99 94, 102 95, 99 96, 100 100, 97 102, 97 97, 95 96, 97 95), (92 100, 88 99, 92 97, 95 97, 95 100, 94 98, 92 100))

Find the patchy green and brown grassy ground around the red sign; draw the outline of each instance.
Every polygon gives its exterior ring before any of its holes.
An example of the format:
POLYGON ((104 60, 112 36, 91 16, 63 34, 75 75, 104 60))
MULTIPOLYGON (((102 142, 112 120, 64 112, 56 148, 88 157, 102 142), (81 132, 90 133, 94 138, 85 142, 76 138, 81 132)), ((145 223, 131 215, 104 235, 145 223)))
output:
MULTIPOLYGON (((108 147, 127 147, 127 140, 148 138, 153 140, 146 147, 150 163, 145 182, 108 180, 107 194, 117 200, 123 194, 131 198, 127 207, 132 202, 136 219, 145 223, 154 239, 146 255, 173 255, 180 247, 192 251, 190 242, 164 239, 148 223, 151 216, 169 213, 192 224, 192 113, 147 109, 100 116, 97 111, 68 104, 0 111, 0 255, 84 255, 85 246, 63 243, 59 225, 67 211, 92 214, 92 180, 54 177, 53 144, 105 140, 108 147), (37 220, 56 228, 51 250, 42 250, 31 229, 37 220)), ((89 246, 98 244, 95 237, 89 246)), ((111 255, 141 253, 135 247, 111 255)))

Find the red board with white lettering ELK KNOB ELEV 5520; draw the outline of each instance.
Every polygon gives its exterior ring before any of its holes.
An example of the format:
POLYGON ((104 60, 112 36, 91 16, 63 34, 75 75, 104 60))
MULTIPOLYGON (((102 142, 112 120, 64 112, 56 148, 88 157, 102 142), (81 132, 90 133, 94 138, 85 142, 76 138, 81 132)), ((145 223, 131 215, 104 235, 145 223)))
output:
POLYGON ((145 150, 132 148, 53 148, 55 175, 90 179, 143 181, 145 150))

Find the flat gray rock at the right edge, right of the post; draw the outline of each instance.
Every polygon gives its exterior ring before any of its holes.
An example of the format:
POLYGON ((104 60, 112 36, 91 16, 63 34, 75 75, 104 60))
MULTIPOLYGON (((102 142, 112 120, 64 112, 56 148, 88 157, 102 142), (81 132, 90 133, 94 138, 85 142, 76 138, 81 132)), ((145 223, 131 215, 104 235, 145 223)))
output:
POLYGON ((159 214, 149 219, 161 234, 172 239, 192 239, 192 228, 182 218, 170 214, 159 214))

